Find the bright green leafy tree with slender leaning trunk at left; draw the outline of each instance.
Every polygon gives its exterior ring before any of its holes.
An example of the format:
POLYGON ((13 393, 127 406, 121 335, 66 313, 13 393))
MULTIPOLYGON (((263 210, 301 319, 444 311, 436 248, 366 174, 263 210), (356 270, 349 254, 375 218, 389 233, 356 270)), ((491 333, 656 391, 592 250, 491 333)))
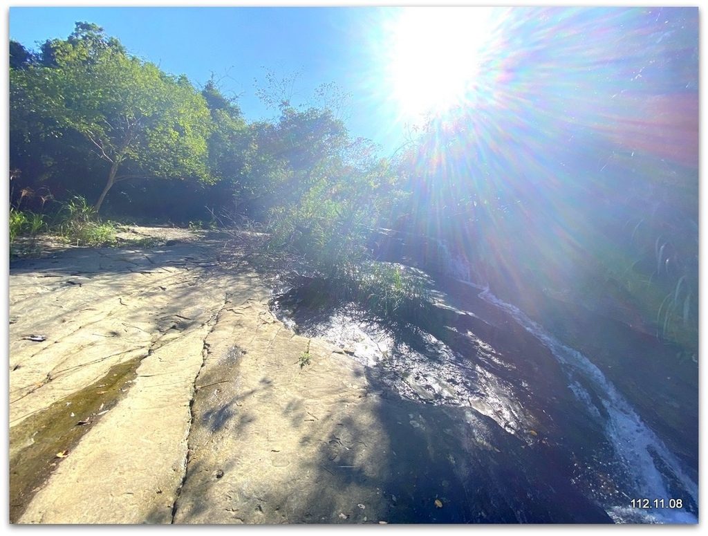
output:
POLYGON ((11 72, 13 85, 25 90, 31 113, 53 122, 55 135, 79 132, 109 164, 96 211, 118 181, 210 179, 204 98, 185 76, 127 55, 96 25, 76 23, 67 40, 45 42, 39 65, 11 72))

